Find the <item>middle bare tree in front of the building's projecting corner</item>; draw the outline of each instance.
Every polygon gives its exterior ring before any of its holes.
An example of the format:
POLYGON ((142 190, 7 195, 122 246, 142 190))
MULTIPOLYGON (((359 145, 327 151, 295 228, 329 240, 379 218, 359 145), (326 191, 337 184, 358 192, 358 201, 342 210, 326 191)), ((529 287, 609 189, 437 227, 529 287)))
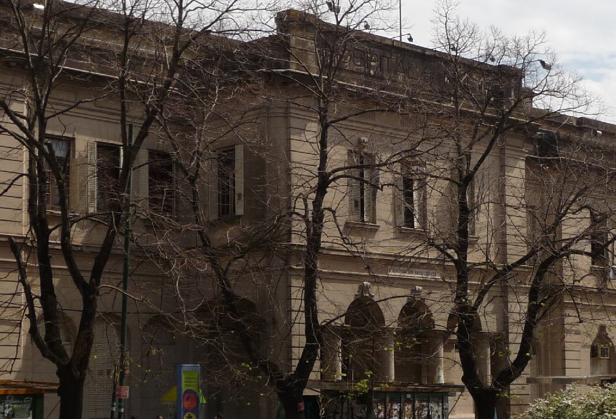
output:
MULTIPOLYGON (((328 194, 348 196, 353 184, 370 195, 382 188, 378 169, 402 155, 383 160, 369 153, 377 145, 363 149, 362 133, 348 128, 362 115, 394 112, 406 101, 390 94, 389 77, 359 92, 349 83, 352 52, 374 42, 359 28, 376 28, 386 9, 334 1, 312 5, 311 14, 280 12, 277 35, 234 48, 228 70, 237 79, 204 84, 211 69, 195 60, 193 78, 182 86, 185 112, 173 113, 197 115, 192 124, 178 128, 173 115, 161 115, 180 196, 175 218, 156 219, 153 242, 177 285, 182 317, 175 321, 203 341, 210 381, 267 384, 287 418, 304 414, 323 328, 334 321, 319 319, 323 243, 347 254, 357 250, 337 219, 342 204, 328 194), (288 108, 305 126, 293 144, 282 116, 277 119, 288 108), (349 147, 356 155, 334 156, 349 147), (304 158, 290 155, 295 152, 304 158), (188 287, 195 277, 210 279, 213 289, 188 287), (293 289, 296 296, 286 295, 293 289), (298 333, 299 347, 291 349, 298 333)), ((407 153, 415 150, 405 145, 407 153)), ((357 211, 358 226, 372 222, 369 205, 360 210, 358 204, 357 211)))

